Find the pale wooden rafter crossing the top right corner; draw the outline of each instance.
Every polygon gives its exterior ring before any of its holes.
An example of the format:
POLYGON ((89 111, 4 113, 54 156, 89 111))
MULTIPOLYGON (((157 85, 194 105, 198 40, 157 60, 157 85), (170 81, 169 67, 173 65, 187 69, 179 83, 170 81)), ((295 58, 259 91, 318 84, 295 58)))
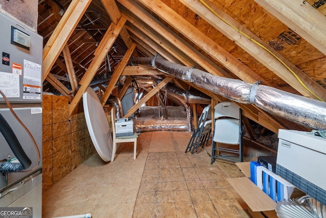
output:
POLYGON ((326 55, 326 17, 302 0, 254 0, 326 55))

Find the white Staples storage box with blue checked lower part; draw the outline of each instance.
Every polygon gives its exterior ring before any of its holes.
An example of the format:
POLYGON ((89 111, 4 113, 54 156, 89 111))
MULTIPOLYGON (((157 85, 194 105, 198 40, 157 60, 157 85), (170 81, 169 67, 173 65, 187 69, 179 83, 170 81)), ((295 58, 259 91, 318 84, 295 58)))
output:
POLYGON ((276 173, 326 204, 326 139, 310 132, 279 130, 276 173))

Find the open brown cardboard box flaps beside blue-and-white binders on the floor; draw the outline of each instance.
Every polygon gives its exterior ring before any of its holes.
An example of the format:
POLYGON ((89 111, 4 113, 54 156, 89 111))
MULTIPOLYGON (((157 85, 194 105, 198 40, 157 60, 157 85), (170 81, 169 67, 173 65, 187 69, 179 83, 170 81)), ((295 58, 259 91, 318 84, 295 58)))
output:
MULTIPOLYGON (((275 211, 276 202, 269 198, 261 189, 251 180, 250 162, 235 163, 246 177, 227 179, 232 187, 238 192, 239 196, 248 205, 248 212, 254 218, 269 217, 277 218, 275 211)), ((305 193, 294 189, 291 198, 304 196, 305 193)))

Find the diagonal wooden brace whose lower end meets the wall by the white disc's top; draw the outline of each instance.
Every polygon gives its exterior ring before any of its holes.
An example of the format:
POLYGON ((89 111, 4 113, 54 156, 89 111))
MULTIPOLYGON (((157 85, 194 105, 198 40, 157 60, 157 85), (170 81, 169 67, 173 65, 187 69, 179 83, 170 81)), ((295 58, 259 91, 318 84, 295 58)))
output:
POLYGON ((95 53, 95 57, 93 58, 90 66, 85 72, 82 80, 80 81, 81 86, 77 91, 74 99, 70 103, 69 106, 69 116, 73 113, 74 109, 76 108, 77 104, 79 103, 80 99, 82 99, 83 94, 85 93, 86 89, 88 88, 89 84, 91 83, 94 75, 96 74, 97 69, 99 68, 100 64, 102 63, 103 59, 106 57, 108 51, 110 51, 113 43, 117 39, 121 29, 124 27, 126 19, 121 18, 118 22, 118 25, 114 25, 113 23, 107 29, 104 37, 100 41, 95 53))

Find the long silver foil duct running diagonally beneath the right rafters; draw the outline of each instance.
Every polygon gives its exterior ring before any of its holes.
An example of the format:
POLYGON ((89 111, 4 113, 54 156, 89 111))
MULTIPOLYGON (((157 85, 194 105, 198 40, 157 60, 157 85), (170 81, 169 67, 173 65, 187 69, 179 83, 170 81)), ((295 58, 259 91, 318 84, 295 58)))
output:
POLYGON ((208 72, 172 63, 162 58, 134 58, 132 64, 157 68, 166 74, 210 90, 242 104, 257 107, 291 122, 316 129, 326 130, 326 103, 304 96, 285 92, 273 87, 249 84, 228 79, 208 72))

